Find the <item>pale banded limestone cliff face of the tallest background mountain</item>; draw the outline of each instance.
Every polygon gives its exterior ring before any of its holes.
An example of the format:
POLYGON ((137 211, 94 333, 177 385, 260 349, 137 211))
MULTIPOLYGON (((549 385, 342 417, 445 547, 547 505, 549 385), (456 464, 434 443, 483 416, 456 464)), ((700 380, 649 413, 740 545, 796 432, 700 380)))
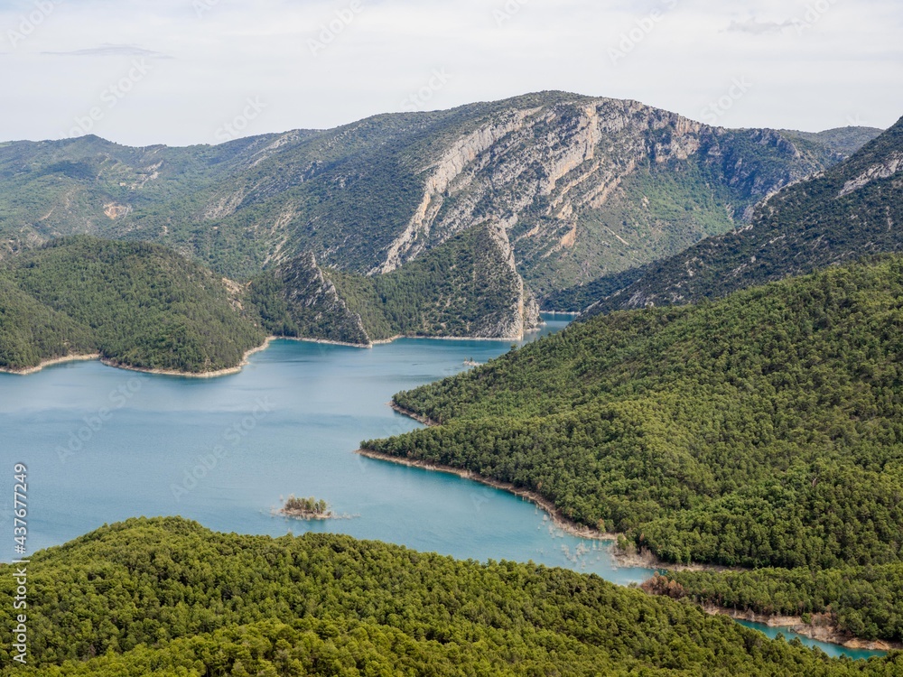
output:
MULTIPOLYGON (((372 272, 395 270, 427 248, 492 220, 507 230, 518 270, 554 286, 567 275, 559 274, 559 261, 568 256, 591 258, 592 247, 629 253, 644 246, 600 226, 598 215, 639 167, 647 172, 650 166, 687 162, 736 195, 725 230, 734 220, 749 218, 759 199, 821 168, 777 132, 731 132, 634 101, 575 97, 513 108, 452 140, 424 170, 418 209, 372 272), (763 171, 761 156, 777 167, 763 171)), ((641 202, 625 208, 624 201, 622 211, 644 208, 641 202)))

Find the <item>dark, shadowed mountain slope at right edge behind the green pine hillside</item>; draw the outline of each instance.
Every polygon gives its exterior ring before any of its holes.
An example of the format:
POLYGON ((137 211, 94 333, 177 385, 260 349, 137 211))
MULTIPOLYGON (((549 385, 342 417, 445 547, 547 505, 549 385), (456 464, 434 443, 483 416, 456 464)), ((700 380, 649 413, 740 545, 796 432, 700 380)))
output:
POLYGON ((592 291, 600 296, 591 314, 693 302, 862 255, 900 251, 901 169, 903 119, 846 162, 759 205, 748 227, 709 237, 617 279, 562 292, 554 303, 573 307, 591 301, 592 291))

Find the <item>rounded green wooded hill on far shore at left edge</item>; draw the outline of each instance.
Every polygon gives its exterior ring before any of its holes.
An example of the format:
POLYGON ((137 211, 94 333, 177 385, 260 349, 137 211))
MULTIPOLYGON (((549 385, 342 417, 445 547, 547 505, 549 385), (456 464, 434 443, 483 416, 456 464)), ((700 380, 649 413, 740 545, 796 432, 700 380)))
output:
POLYGON ((221 278, 165 247, 73 236, 0 264, 0 367, 58 357, 194 374, 238 366, 265 334, 221 278))

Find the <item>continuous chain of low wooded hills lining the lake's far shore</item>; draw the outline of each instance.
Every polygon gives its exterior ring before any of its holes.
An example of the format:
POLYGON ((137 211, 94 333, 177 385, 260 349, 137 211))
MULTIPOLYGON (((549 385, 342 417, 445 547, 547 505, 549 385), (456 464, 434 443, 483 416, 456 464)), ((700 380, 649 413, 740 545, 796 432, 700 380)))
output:
POLYGON ((519 339, 539 309, 504 232, 474 227, 392 273, 301 255, 246 284, 164 246, 70 236, 0 262, 0 369, 99 355, 116 366, 209 374, 267 334, 369 347, 411 337, 519 339))

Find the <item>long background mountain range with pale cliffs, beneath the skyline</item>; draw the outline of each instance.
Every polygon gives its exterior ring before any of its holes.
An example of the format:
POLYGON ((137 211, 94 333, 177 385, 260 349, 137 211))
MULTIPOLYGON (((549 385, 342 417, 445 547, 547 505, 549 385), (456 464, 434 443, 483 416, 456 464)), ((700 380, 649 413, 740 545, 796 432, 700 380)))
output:
POLYGON ((543 296, 738 227, 858 139, 545 92, 214 147, 16 142, 0 145, 0 238, 153 241, 247 280, 301 255, 386 274, 489 227, 543 296))

